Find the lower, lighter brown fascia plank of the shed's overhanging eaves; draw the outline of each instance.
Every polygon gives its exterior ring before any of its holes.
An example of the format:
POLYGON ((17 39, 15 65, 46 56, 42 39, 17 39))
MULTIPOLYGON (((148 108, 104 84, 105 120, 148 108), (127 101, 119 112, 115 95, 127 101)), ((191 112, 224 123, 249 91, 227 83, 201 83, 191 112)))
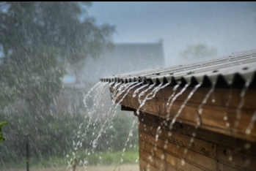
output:
MULTIPOLYGON (((136 102, 131 96, 127 96, 128 101, 131 101, 133 108, 139 107, 139 102, 136 102)), ((145 107, 142 107, 142 111, 144 110, 147 113, 160 116, 161 118, 166 117, 165 107, 163 102, 154 102, 156 99, 152 99, 147 102, 145 107), (157 104, 157 105, 156 105, 157 104)), ((171 109, 171 119, 178 113, 180 110, 180 102, 175 102, 171 109)), ((187 123, 192 126, 197 125, 197 109, 198 106, 195 104, 186 104, 186 107, 183 108, 182 113, 178 117, 177 121, 182 123, 187 123)), ((247 127, 249 126, 249 122, 251 121, 253 111, 249 110, 241 110, 241 119, 240 124, 235 127, 234 123, 236 121, 236 113, 234 109, 227 110, 228 120, 224 121, 224 111, 226 111, 225 107, 209 107, 207 105, 203 106, 202 113, 202 129, 208 129, 213 132, 219 132, 222 134, 227 134, 233 137, 243 138, 245 140, 250 140, 252 142, 256 142, 256 126, 252 129, 250 136, 245 134, 247 127), (227 122, 229 125, 227 126, 227 122)))

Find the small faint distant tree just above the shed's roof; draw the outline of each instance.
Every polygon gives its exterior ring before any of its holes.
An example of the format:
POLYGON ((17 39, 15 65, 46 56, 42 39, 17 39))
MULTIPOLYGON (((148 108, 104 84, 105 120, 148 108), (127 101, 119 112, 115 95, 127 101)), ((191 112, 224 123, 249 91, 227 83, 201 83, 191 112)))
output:
POLYGON ((186 59, 196 59, 196 58, 214 58, 217 56, 217 50, 215 47, 207 47, 204 44, 197 44, 194 46, 188 45, 185 50, 180 53, 180 57, 186 59))

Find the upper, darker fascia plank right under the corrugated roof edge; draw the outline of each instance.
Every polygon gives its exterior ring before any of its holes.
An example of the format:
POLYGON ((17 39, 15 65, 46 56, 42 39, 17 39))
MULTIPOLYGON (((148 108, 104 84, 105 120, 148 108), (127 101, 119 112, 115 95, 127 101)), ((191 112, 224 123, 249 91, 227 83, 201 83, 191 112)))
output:
MULTIPOLYGON (((134 94, 134 91, 137 89, 133 88, 128 92, 128 95, 134 94)), ((140 94, 142 91, 145 91, 146 88, 142 88, 141 90, 138 91, 137 94, 140 94)), ((173 94, 172 91, 173 87, 167 86, 163 89, 160 89, 156 93, 156 99, 169 99, 169 96, 173 94)), ((178 94, 182 88, 178 88, 177 91, 175 92, 178 94)), ((194 88, 188 87, 186 88, 186 91, 183 92, 183 94, 180 94, 180 96, 177 97, 176 101, 178 102, 184 102, 185 99, 189 96, 190 92, 194 88)), ((211 88, 198 88, 197 91, 191 96, 191 99, 189 102, 194 102, 197 104, 201 104, 202 100, 205 98, 206 94, 210 91, 211 88)), ((231 98, 230 98, 230 104, 229 106, 231 108, 236 108, 238 107, 238 104, 241 102, 241 91, 243 88, 233 88, 232 93, 231 93, 231 98)), ((152 90, 151 90, 152 91, 152 90)), ((142 99, 147 96, 151 91, 147 91, 144 96, 142 96, 142 99)), ((124 92, 123 94, 125 94, 124 92)), ((213 91, 213 94, 209 97, 208 101, 206 102, 206 105, 212 105, 212 106, 226 106, 226 102, 229 100, 229 94, 230 94, 230 88, 215 88, 213 91), (215 99, 212 101, 212 99, 215 99)), ((255 88, 249 88, 246 91, 246 95, 244 96, 244 109, 251 109, 251 110, 256 110, 255 107, 255 94, 256 94, 256 89, 255 88)), ((122 96, 122 94, 120 95, 122 96)), ((138 95, 134 97, 135 99, 138 98, 138 95)))

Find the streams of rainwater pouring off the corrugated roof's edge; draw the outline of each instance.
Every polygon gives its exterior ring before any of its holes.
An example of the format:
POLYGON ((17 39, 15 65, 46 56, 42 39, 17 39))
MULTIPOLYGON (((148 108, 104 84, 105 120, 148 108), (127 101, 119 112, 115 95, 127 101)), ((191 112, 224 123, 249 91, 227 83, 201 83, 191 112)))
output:
MULTIPOLYGON (((155 84, 153 84, 153 85, 148 85, 148 84, 142 85, 142 84, 143 84, 142 82, 140 82, 140 83, 138 83, 138 82, 133 82, 133 83, 114 83, 114 82, 112 82, 112 83, 97 83, 84 96, 84 106, 87 108, 88 107, 87 99, 92 97, 91 94, 93 91, 96 92, 95 95, 93 96, 94 98, 92 100, 92 102, 93 102, 92 107, 90 107, 88 109, 87 117, 89 117, 89 124, 87 125, 86 128, 88 128, 89 125, 95 125, 97 123, 98 115, 103 115, 105 117, 103 124, 100 126, 100 130, 96 133, 96 135, 97 135, 96 138, 92 141, 92 149, 91 149, 92 153, 94 153, 94 149, 98 146, 98 139, 102 136, 102 134, 104 132, 106 132, 107 129, 111 129, 113 127, 113 124, 114 124, 113 118, 114 118, 114 115, 116 114, 117 107, 125 99, 125 96, 127 96, 131 90, 134 90, 134 91, 132 94, 129 94, 129 96, 132 96, 133 98, 138 96, 139 107, 136 109, 136 115, 139 115, 139 111, 142 109, 142 107, 145 105, 145 103, 148 100, 153 99, 156 96, 156 94, 158 93, 158 91, 160 91, 162 88, 169 86, 169 83, 166 83, 164 85, 159 84, 158 86, 156 86, 155 84), (138 88, 136 88, 136 87, 138 87, 138 88), (103 96, 103 92, 106 90, 106 88, 111 88, 111 104, 110 104, 109 110, 106 113, 95 114, 97 107, 100 105, 100 99, 103 96), (136 89, 134 89, 134 88, 136 88, 136 89), (143 91, 141 91, 141 90, 143 90, 143 91), (139 91, 141 91, 141 92, 139 93, 139 91), (143 99, 142 99, 142 96, 144 97, 143 99), (94 122, 92 122, 93 115, 96 116, 94 122)), ((174 124, 177 122, 184 107, 186 107, 187 102, 189 102, 189 99, 191 99, 191 97, 194 95, 194 93, 197 91, 197 89, 200 88, 200 86, 201 85, 198 84, 197 86, 194 86, 194 88, 191 89, 191 92, 186 97, 186 99, 182 102, 182 104, 180 104, 180 107, 175 115, 173 115, 173 113, 171 113, 172 106, 174 105, 175 100, 178 98, 178 96, 180 96, 181 94, 183 94, 184 91, 186 91, 186 89, 189 87, 189 84, 186 84, 185 86, 183 86, 183 88, 180 88, 180 91, 178 93, 176 91, 178 90, 180 85, 176 85, 172 88, 172 95, 169 96, 169 98, 167 99, 167 102, 165 104, 165 107, 167 110, 167 115, 166 115, 166 118, 164 119, 164 122, 163 122, 164 124, 161 124, 160 126, 158 126, 156 128, 154 147, 151 151, 151 156, 149 157, 149 159, 153 159, 153 156, 155 155, 155 152, 157 150, 159 135, 161 134, 161 129, 165 129, 164 127, 168 127, 168 130, 169 130, 168 134, 167 134, 167 140, 164 141, 164 148, 165 149, 167 148, 169 138, 172 137, 171 131, 173 129, 174 124), (169 123, 170 115, 172 115, 172 121, 169 123), (168 125, 168 123, 169 123, 169 125, 168 125)), ((240 94, 241 101, 236 109, 236 118, 237 118, 238 123, 241 118, 241 108, 244 106, 244 96, 245 96, 248 88, 249 88, 249 83, 246 82, 244 88, 241 90, 241 94, 240 94)), ((215 96, 214 96, 214 90, 215 90, 215 85, 213 84, 213 86, 210 88, 210 90, 207 92, 207 94, 205 94, 204 98, 202 99, 202 102, 197 107, 197 125, 195 126, 196 131, 191 134, 191 139, 189 140, 189 144, 187 145, 187 147, 191 147, 191 145, 194 142, 194 138, 196 137, 197 129, 202 125, 201 115, 202 115, 203 105, 208 102, 208 99, 211 95, 212 95, 211 102, 216 101, 215 96)), ((227 123, 226 123, 227 127, 230 126, 230 123, 228 122, 228 116, 227 116, 228 111, 227 110, 228 110, 228 107, 230 106, 230 101, 232 99, 232 92, 233 92, 233 89, 230 88, 230 91, 229 91, 229 94, 227 97, 227 102, 225 104, 225 112, 224 112, 224 117, 223 117, 223 120, 227 121, 227 123)), ((245 133, 247 135, 251 134, 252 128, 255 126, 255 121, 256 121, 256 111, 252 115, 252 119, 246 129, 245 133)), ((122 148, 122 156, 120 158, 121 163, 123 161, 123 157, 125 156, 125 151, 126 151, 128 142, 131 140, 131 137, 134 136, 132 133, 132 130, 134 129, 134 126, 137 126, 137 123, 138 123, 138 121, 135 119, 132 124, 132 129, 128 132, 127 139, 124 144, 124 148, 122 148)), ((73 142, 73 146, 74 146, 73 150, 75 152, 78 151, 78 148, 81 147, 81 142, 84 141, 84 137, 87 136, 87 132, 80 131, 80 128, 83 126, 83 124, 84 123, 81 123, 81 125, 79 126, 79 131, 75 134, 76 137, 81 137, 81 140, 78 140, 77 142, 73 142)), ((188 149, 186 148, 183 151, 184 155, 186 155, 187 152, 188 152, 188 149)), ((76 157, 76 153, 73 153, 73 157, 76 157)), ((232 155, 231 155, 231 157, 232 157, 232 155)), ((184 165, 185 163, 186 163, 185 159, 182 159, 181 165, 184 165)), ((84 161, 83 164, 86 167, 88 164, 88 161, 84 161)), ((150 167, 150 164, 147 164, 147 166, 150 167)))

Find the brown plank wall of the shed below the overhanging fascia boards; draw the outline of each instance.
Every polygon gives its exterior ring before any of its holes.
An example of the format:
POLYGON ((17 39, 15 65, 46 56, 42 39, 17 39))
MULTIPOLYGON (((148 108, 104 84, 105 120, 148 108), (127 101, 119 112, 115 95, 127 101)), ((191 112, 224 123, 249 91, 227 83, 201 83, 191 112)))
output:
POLYGON ((256 143, 140 112, 140 170, 256 170, 256 143))

